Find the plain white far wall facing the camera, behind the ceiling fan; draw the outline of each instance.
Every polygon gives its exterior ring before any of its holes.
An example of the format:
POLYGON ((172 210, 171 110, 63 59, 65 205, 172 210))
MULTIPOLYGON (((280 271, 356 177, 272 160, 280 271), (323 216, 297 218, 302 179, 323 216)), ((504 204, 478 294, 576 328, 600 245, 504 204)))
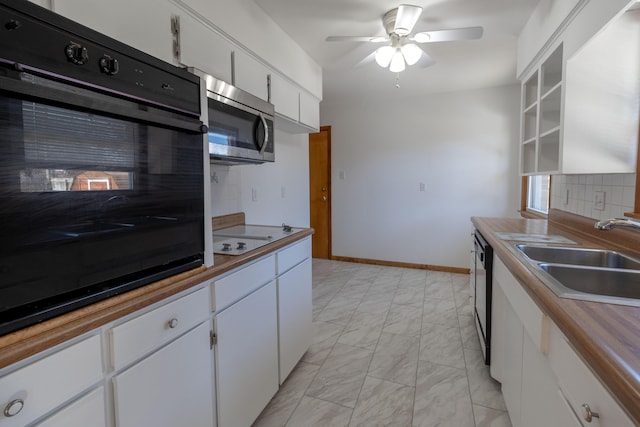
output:
POLYGON ((519 108, 519 86, 323 102, 333 255, 468 268, 470 217, 518 215, 519 108))

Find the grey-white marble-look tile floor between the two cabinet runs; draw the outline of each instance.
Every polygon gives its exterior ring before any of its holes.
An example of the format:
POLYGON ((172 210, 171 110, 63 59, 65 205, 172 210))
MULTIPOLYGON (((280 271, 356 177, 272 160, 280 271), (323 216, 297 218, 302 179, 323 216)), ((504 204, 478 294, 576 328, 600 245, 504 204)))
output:
POLYGON ((468 275, 314 259, 313 322, 254 426, 511 426, 468 275))

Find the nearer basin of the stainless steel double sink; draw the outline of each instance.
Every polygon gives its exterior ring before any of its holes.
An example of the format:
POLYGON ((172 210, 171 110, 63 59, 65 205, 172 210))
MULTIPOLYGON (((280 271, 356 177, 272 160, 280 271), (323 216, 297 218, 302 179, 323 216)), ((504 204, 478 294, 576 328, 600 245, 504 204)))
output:
MULTIPOLYGON (((578 267, 558 264, 540 264, 548 273, 567 289, 560 289, 565 296, 580 296, 575 292, 602 297, 633 298, 640 304, 640 270, 605 269, 578 267)), ((562 295, 561 295, 562 296, 562 295)), ((602 302, 617 302, 602 298, 580 298, 602 302)))

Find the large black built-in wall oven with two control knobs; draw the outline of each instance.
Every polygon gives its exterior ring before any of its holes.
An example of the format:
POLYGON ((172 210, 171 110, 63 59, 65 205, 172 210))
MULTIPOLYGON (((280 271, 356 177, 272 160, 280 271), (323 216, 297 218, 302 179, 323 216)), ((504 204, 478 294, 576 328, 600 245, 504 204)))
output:
POLYGON ((0 334, 202 265, 199 79, 0 0, 0 334))

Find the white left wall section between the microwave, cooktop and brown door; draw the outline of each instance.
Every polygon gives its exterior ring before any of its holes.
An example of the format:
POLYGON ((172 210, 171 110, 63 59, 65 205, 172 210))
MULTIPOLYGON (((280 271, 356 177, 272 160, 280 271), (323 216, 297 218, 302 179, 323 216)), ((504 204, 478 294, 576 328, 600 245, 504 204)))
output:
POLYGON ((275 141, 274 163, 211 165, 213 216, 244 212, 247 224, 309 227, 308 137, 276 129, 275 141))

